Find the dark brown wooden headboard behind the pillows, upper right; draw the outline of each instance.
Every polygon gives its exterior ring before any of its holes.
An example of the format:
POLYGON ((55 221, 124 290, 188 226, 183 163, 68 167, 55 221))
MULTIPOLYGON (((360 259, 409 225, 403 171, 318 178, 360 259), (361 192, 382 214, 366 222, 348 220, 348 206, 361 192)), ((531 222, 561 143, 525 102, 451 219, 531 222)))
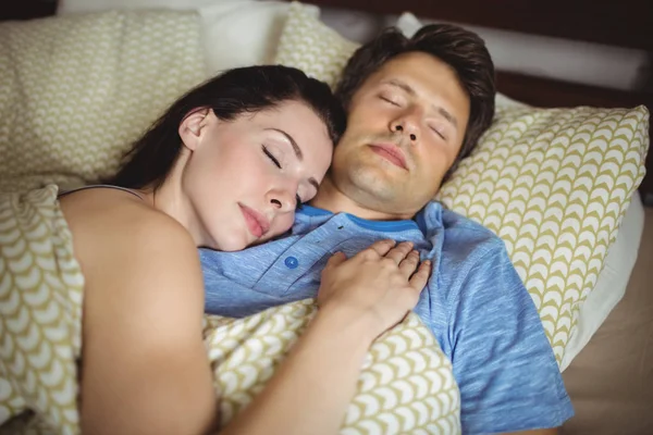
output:
MULTIPOLYGON (((469 24, 639 49, 649 52, 653 62, 653 7, 648 1, 308 0, 308 2, 319 7, 358 10, 373 14, 397 15, 410 11, 419 17, 461 25, 469 24)), ((650 70, 650 75, 653 76, 653 70, 650 70)), ((496 79, 501 92, 532 105, 617 108, 644 104, 653 114, 652 90, 608 89, 508 71, 497 71, 496 79)), ((653 137, 653 123, 650 124, 649 136, 653 137)), ((653 197, 653 152, 649 152, 646 169, 648 175, 640 186, 640 192, 644 198, 653 197)))

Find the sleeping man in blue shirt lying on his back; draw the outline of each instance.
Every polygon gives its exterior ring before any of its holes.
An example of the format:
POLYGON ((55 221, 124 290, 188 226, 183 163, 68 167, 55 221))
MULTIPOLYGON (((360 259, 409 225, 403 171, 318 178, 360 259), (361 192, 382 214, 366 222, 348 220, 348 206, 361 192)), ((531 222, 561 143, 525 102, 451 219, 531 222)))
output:
POLYGON ((555 433, 571 405, 503 241, 430 201, 492 120, 483 41, 449 25, 411 39, 387 32, 354 54, 336 94, 347 129, 318 195, 288 237, 201 252, 207 311, 243 316, 315 297, 334 252, 411 241, 433 264, 415 311, 453 363, 464 433, 555 433))

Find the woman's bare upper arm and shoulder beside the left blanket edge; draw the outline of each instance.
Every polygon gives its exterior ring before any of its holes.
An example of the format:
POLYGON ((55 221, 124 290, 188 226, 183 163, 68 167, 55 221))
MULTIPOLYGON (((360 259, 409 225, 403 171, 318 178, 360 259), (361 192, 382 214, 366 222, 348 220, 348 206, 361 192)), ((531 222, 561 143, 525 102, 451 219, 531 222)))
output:
POLYGON ((208 433, 218 400, 197 249, 180 224, 138 199, 100 197, 62 201, 86 279, 82 432, 208 433))

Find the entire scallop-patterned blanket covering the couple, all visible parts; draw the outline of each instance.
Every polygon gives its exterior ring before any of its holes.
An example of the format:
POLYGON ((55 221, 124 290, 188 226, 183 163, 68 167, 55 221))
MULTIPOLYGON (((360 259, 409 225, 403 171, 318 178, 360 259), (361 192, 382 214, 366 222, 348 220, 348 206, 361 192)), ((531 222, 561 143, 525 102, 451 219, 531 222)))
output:
MULTIPOLYGON (((58 187, 0 194, 0 424, 79 433, 84 276, 58 187)), ((313 300, 244 319, 207 315, 204 340, 226 424, 259 393, 316 312, 313 300)), ((452 365, 419 318, 370 347, 342 434, 460 432, 452 365)))

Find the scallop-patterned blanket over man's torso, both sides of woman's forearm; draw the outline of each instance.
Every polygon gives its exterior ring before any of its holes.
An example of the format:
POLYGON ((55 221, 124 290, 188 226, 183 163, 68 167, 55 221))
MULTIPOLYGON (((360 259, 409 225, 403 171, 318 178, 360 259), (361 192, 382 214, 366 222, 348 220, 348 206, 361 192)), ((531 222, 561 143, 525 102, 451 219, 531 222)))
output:
MULTIPOLYGON (((239 320, 207 316, 205 343, 221 391, 222 423, 248 405, 316 312, 312 299, 239 320)), ((371 346, 341 434, 459 434, 451 362, 417 314, 371 346)))

